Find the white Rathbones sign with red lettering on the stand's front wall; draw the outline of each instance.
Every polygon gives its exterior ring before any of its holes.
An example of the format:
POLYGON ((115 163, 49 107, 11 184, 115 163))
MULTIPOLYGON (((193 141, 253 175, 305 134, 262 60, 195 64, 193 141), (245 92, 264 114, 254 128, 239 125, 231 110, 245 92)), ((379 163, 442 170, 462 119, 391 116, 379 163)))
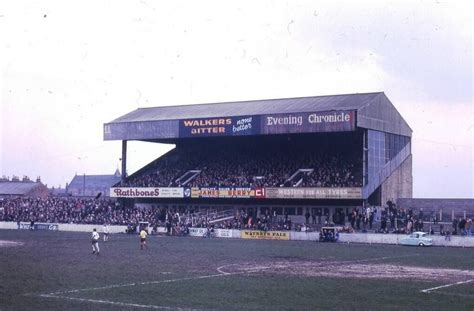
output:
POLYGON ((182 198, 183 188, 110 188, 113 198, 182 198))

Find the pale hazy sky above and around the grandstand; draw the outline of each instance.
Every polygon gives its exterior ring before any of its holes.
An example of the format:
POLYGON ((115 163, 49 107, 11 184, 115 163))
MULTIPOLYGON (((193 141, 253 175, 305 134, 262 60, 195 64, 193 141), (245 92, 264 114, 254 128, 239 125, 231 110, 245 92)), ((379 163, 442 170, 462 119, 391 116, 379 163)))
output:
MULTIPOLYGON (((139 107, 383 91, 414 197, 474 198, 470 1, 0 2, 0 176, 112 174, 139 107)), ((173 146, 129 142, 128 173, 173 146)))

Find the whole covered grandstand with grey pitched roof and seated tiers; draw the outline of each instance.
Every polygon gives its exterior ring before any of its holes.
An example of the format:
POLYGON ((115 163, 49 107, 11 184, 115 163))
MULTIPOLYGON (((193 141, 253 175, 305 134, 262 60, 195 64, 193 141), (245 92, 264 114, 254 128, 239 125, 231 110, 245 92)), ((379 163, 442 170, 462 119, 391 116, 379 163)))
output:
POLYGON ((349 215, 412 197, 412 130, 382 92, 140 108, 122 141, 126 204, 349 215), (126 177, 127 141, 175 148, 126 177))

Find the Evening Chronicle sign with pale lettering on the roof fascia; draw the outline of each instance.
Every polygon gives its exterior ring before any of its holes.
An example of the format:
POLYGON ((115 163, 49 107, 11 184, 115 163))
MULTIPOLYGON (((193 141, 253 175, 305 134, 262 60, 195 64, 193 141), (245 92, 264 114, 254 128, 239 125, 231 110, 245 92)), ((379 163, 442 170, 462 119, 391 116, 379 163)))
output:
POLYGON ((262 134, 355 130, 355 111, 304 112, 262 116, 262 134))

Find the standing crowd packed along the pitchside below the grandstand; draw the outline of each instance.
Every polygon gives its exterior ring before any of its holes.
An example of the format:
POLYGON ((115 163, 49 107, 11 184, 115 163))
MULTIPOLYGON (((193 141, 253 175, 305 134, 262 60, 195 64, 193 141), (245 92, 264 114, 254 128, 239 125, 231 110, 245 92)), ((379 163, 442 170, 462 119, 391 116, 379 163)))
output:
MULTIPOLYGON (((216 221, 217 211, 209 208, 185 208, 158 206, 154 208, 124 207, 118 201, 108 198, 73 198, 73 197, 10 197, 0 198, 0 220, 16 222, 42 223, 71 223, 71 224, 111 224, 137 225, 139 222, 148 222, 153 228, 165 227, 169 234, 175 230, 183 233, 189 227, 222 228, 222 229, 251 229, 251 230, 296 230, 311 231, 315 229, 316 216, 309 212, 304 216, 304 223, 294 223, 291 217, 277 215, 275 210, 265 209, 263 213, 248 213, 245 209, 231 212, 231 219, 216 221), (310 223, 310 217, 312 223, 310 223)), ((227 215, 228 216, 228 215, 227 215)), ((385 207, 354 208, 348 215, 337 211, 332 219, 325 215, 324 226, 340 225, 345 232, 380 232, 408 234, 414 231, 431 231, 427 226, 427 215, 423 210, 414 212, 410 208, 397 207, 387 202, 385 207), (379 224, 377 228, 374 223, 379 224)), ((438 225, 441 235, 472 236, 472 219, 468 217, 456 218, 451 226, 438 224, 437 218, 431 219, 433 225, 438 225), (446 227, 445 227, 446 226, 446 227)), ((318 221, 319 223, 320 221, 318 221)))

